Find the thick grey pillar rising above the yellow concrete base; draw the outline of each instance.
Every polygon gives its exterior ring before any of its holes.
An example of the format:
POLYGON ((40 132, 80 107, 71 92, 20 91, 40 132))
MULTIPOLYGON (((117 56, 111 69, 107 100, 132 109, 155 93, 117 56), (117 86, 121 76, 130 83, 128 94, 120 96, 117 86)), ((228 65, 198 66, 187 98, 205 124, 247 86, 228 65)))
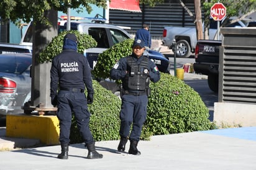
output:
POLYGON ((52 25, 33 23, 33 50, 32 50, 32 84, 31 84, 31 106, 53 107, 50 100, 50 63, 40 64, 37 61, 40 51, 58 35, 58 12, 50 10, 45 12, 45 16, 52 25))

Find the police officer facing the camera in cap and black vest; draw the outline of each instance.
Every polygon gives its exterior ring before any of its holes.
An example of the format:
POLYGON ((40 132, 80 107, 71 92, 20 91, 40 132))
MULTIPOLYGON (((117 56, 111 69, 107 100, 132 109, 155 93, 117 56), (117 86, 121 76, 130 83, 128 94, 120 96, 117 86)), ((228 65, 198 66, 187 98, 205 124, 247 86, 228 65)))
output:
POLYGON ((129 138, 129 154, 140 155, 137 145, 140 140, 143 123, 147 117, 149 81, 160 79, 160 73, 153 61, 144 56, 145 43, 136 39, 132 45, 132 55, 121 58, 111 69, 112 79, 122 80, 120 112, 121 126, 118 151, 126 149, 129 138), (132 131, 130 132, 130 125, 132 131), (129 134, 130 133, 130 134, 129 134))

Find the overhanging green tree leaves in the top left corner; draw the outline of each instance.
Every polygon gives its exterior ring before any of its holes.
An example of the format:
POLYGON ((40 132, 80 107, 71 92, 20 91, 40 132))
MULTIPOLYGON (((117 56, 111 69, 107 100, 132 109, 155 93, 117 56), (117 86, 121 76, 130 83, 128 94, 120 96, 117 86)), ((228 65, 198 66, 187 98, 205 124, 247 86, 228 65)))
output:
POLYGON ((78 9, 78 12, 86 9, 88 13, 93 11, 91 5, 98 7, 106 7, 107 0, 44 0, 44 1, 27 1, 27 0, 1 0, 0 2, 0 16, 3 20, 11 19, 16 22, 17 19, 22 19, 29 23, 33 18, 34 21, 39 21, 46 24, 47 17, 44 12, 50 9, 62 11, 66 13, 68 7, 71 9, 78 9))

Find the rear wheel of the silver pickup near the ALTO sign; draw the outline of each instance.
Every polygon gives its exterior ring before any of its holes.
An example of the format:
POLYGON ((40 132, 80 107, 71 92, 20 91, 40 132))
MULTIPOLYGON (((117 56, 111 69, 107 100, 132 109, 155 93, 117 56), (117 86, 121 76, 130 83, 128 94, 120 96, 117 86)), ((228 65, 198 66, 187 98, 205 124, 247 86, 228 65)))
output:
POLYGON ((190 44, 186 40, 179 40, 176 44, 176 56, 188 58, 191 55, 190 44))

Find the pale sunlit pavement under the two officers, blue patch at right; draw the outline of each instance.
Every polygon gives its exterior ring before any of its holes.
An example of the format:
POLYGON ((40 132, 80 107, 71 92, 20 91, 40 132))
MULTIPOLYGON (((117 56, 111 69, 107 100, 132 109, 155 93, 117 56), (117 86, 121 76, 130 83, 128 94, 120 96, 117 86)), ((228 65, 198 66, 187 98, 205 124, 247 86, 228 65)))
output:
POLYGON ((118 143, 96 142, 103 159, 86 159, 83 143, 70 145, 68 160, 57 159, 59 145, 1 151, 0 169, 256 169, 256 127, 152 136, 140 156, 119 153, 118 143))

